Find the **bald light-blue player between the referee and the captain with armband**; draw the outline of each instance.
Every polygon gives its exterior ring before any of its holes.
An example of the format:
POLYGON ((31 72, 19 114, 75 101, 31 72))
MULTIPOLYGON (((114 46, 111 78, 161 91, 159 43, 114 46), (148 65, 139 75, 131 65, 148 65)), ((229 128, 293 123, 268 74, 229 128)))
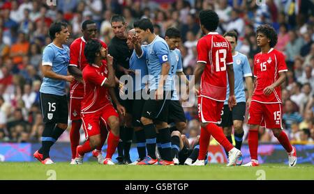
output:
POLYGON ((145 132, 142 127, 141 116, 145 100, 142 97, 142 93, 145 93, 146 83, 144 82, 144 76, 148 74, 146 63, 146 46, 142 46, 144 54, 140 58, 136 56, 134 51, 133 38, 135 36, 135 29, 128 31, 128 40, 126 44, 129 49, 133 50, 133 54, 130 57, 130 70, 133 70, 135 74, 130 74, 133 79, 133 100, 132 100, 132 124, 135 131, 136 146, 139 159, 130 163, 136 165, 139 161, 144 160, 146 157, 146 139, 145 132))

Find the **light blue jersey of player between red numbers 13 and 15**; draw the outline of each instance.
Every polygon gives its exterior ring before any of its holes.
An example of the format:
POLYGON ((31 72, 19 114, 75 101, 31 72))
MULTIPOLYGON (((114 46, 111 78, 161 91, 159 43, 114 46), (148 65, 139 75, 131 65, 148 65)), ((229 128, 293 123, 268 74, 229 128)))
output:
MULTIPOLYGON (((234 95, 237 102, 246 102, 246 92, 244 91, 244 78, 252 76, 251 67, 248 58, 239 52, 236 52, 233 58, 234 71, 234 95)), ((229 99, 229 83, 227 80, 227 97, 224 104, 228 104, 229 99)))

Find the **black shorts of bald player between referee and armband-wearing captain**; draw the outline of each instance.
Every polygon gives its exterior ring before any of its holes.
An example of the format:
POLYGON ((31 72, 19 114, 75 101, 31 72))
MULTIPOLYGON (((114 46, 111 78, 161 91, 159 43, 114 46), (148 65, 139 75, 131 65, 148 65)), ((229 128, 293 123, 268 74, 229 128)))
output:
POLYGON ((133 100, 132 100, 133 102, 133 107, 132 107, 133 127, 142 127, 141 117, 142 117, 142 112, 143 112, 145 101, 146 100, 142 98, 142 90, 138 90, 134 92, 133 100), (138 94, 140 92, 141 94, 138 94), (140 96, 140 99, 136 99, 136 95, 140 96))

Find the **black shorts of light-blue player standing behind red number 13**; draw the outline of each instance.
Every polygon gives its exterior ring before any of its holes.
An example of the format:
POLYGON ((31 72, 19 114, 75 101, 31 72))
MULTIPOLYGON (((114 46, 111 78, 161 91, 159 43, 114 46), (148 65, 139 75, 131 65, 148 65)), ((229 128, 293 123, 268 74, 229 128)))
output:
POLYGON ((223 113, 221 115, 221 123, 219 124, 220 127, 231 127, 233 125, 234 120, 241 120, 244 121, 244 117, 246 114, 246 103, 239 102, 236 106, 230 108, 227 104, 223 105, 223 113))

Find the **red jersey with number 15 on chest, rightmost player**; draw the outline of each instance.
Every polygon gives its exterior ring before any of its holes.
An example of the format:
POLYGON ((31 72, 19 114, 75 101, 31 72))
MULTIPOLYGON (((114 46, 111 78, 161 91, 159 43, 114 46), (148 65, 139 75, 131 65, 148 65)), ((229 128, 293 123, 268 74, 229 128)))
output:
POLYGON ((254 76, 256 78, 252 101, 261 103, 281 103, 281 86, 275 88, 271 95, 264 95, 263 90, 275 83, 279 72, 287 72, 285 56, 280 51, 271 48, 267 54, 254 56, 254 76))

